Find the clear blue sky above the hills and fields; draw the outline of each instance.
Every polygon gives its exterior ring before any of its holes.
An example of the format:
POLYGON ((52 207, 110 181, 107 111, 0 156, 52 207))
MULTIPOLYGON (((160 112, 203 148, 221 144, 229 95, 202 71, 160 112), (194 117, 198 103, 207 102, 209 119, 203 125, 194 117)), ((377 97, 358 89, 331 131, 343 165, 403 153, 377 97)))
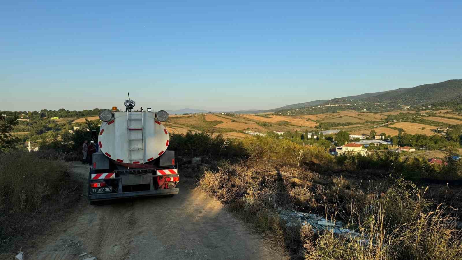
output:
POLYGON ((269 109, 462 78, 462 1, 9 1, 0 110, 269 109), (67 2, 67 3, 65 3, 67 2))

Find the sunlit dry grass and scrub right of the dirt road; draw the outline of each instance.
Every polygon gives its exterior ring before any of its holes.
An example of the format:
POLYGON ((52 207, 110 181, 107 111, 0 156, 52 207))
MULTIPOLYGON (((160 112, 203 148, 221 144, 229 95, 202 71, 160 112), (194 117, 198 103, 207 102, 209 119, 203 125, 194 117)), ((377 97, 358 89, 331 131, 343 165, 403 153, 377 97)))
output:
POLYGON ((425 189, 396 180, 369 187, 364 193, 354 190, 352 183, 341 176, 316 186, 313 183, 319 180, 312 176, 289 167, 274 171, 269 165, 222 164, 218 172, 205 172, 199 188, 228 204, 266 239, 285 248, 291 259, 462 257, 462 233, 453 228, 455 219, 447 215, 452 209, 432 207, 432 201, 423 199, 425 189), (318 236, 301 223, 287 227, 277 213, 284 209, 310 211, 320 205, 327 218, 341 216, 348 228, 363 238, 352 240, 331 232, 318 236))

